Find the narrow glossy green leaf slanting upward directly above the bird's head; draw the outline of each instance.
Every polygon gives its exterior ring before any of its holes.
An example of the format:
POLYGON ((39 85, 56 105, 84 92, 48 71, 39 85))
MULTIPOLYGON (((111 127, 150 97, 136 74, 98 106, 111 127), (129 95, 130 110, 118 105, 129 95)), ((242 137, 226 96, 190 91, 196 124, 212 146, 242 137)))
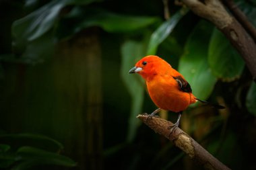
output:
POLYGON ((164 22, 151 36, 150 44, 148 46, 148 55, 156 54, 158 46, 170 35, 172 30, 177 26, 181 18, 186 15, 187 8, 183 8, 177 13, 175 13, 170 19, 164 22))

